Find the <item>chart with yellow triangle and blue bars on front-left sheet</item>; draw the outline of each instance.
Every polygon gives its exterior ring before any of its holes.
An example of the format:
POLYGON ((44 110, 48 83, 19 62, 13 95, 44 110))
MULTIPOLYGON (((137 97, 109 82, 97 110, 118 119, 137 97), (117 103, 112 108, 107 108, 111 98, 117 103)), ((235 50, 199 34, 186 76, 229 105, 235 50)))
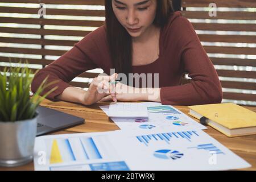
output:
POLYGON ((49 164, 114 158, 115 151, 109 148, 106 140, 104 137, 47 139, 49 164))

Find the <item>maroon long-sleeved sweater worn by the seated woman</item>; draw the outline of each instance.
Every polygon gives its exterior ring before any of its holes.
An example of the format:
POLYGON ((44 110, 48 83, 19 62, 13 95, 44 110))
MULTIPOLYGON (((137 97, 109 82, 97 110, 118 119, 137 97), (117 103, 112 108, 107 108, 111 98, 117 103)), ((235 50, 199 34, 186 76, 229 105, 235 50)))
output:
MULTIPOLYGON (((132 67, 132 73, 159 73, 160 98, 163 105, 200 105, 220 103, 222 89, 220 80, 192 24, 181 16, 172 14, 160 31, 159 59, 147 65, 132 67), (181 85, 183 73, 189 73, 191 83, 181 85)), ((48 98, 56 96, 71 85, 73 78, 89 69, 102 68, 110 75, 114 68, 110 59, 105 27, 86 35, 79 43, 46 68, 40 70, 31 84, 35 92, 49 75, 49 81, 60 80, 44 91, 59 86, 48 98)))

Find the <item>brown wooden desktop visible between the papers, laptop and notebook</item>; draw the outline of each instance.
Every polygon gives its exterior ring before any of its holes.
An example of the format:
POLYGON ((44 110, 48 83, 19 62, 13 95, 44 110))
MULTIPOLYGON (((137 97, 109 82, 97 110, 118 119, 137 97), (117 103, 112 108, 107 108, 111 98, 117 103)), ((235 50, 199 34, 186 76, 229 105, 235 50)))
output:
MULTIPOLYGON (((104 111, 102 111, 99 107, 101 105, 109 105, 108 102, 100 102, 93 106, 86 107, 83 105, 73 104, 69 102, 52 102, 49 100, 44 100, 41 105, 50 107, 52 109, 60 110, 65 113, 76 115, 78 117, 85 118, 86 120, 86 123, 83 125, 59 131, 54 134, 88 133, 98 131, 112 131, 119 129, 119 127, 117 127, 117 125, 115 125, 114 122, 111 121, 104 113, 104 111)), ((189 111, 187 106, 175 107, 183 111, 183 113, 185 114, 187 114, 189 111)), ((256 112, 256 107, 246 108, 256 112)), ((212 127, 208 127, 208 130, 204 131, 213 138, 217 139, 220 143, 224 144, 224 146, 228 147, 238 156, 249 162, 252 167, 245 170, 256 170, 256 135, 229 138, 226 137, 224 134, 221 134, 217 130, 212 129, 212 127)), ((34 164, 31 162, 25 166, 15 168, 0 167, 0 170, 34 170, 34 164)))

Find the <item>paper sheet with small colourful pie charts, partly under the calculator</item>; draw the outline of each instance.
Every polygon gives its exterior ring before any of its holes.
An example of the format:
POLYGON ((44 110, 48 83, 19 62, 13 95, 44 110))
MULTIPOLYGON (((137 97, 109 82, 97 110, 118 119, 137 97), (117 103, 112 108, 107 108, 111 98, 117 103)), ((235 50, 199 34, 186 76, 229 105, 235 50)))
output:
MULTIPOLYGON (((136 105, 137 103, 134 103, 136 105)), ((141 105, 147 106, 148 118, 112 118, 121 130, 204 130, 207 127, 196 122, 188 115, 173 106, 162 105, 156 102, 143 102, 141 105)), ((108 115, 109 106, 100 106, 108 115)))

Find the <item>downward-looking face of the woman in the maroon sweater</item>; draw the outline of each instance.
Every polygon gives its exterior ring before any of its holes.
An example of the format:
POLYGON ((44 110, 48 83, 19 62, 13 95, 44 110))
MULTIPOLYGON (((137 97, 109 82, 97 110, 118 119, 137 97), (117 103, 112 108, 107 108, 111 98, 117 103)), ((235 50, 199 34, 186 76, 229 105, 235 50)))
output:
POLYGON ((132 37, 139 37, 152 26, 156 0, 112 0, 115 16, 132 37))

